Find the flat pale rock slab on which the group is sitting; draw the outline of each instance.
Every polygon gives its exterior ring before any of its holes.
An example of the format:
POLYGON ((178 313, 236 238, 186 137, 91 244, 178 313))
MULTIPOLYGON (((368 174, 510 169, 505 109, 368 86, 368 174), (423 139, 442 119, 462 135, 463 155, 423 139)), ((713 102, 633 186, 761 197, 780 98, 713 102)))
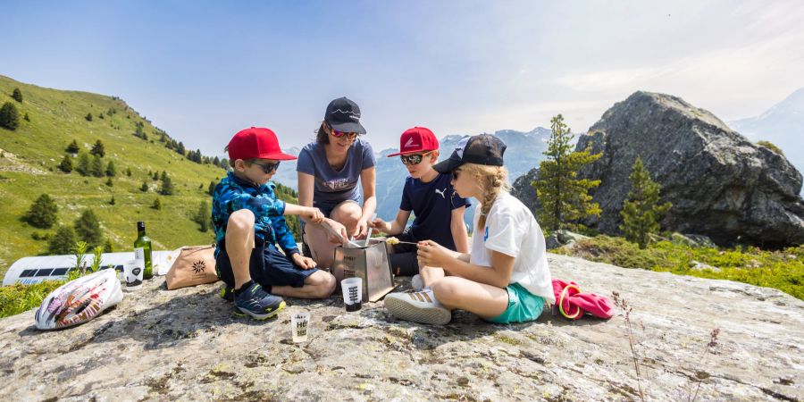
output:
MULTIPOLYGON (((775 289, 549 255, 555 278, 619 292, 632 306, 650 400, 804 398, 804 302, 775 289), (706 352, 709 333, 720 335, 706 352)), ((382 304, 290 299, 269 322, 231 314, 221 284, 163 280, 95 321, 41 332, 33 311, 0 321, 6 400, 637 400, 622 315, 497 325, 458 312, 447 326, 401 322, 382 304), (290 341, 289 311, 312 314, 290 341)), ((403 283, 406 289, 407 282, 403 283)))

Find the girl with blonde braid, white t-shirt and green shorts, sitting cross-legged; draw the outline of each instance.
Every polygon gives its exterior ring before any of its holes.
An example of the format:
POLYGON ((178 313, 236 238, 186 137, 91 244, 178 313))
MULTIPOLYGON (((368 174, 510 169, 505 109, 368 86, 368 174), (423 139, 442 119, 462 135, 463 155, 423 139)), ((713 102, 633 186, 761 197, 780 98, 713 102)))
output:
POLYGON ((423 289, 392 293, 394 316, 445 324, 461 309, 490 322, 527 322, 554 303, 544 234, 531 211, 508 194, 506 145, 482 134, 465 138, 448 160, 433 166, 453 175, 460 197, 480 201, 474 213, 472 251, 461 254, 431 240, 418 243, 423 289))

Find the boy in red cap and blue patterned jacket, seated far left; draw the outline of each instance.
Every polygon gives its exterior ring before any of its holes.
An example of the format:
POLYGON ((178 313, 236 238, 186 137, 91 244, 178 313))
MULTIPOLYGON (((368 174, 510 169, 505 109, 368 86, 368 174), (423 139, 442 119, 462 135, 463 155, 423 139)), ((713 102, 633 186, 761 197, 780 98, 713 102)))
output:
POLYGON ((216 270, 226 283, 222 296, 256 319, 270 318, 284 308, 281 297, 328 297, 335 277, 315 268, 301 255, 284 215, 301 215, 321 222, 318 208, 285 203, 268 182, 281 161, 296 159, 282 153, 272 130, 241 130, 225 151, 232 170, 215 187, 213 224, 216 270), (279 244, 282 252, 276 248, 279 244))

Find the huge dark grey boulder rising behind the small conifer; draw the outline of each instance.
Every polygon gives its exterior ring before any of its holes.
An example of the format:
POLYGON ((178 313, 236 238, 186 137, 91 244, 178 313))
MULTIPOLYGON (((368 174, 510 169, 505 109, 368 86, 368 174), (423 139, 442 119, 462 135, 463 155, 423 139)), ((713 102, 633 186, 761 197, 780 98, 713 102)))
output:
POLYGON ((804 243, 801 173, 706 110, 676 96, 636 92, 610 108, 578 139, 603 156, 579 176, 599 179, 594 201, 603 213, 586 223, 619 233, 628 175, 641 157, 673 207, 667 230, 708 236, 717 244, 783 247, 804 243))

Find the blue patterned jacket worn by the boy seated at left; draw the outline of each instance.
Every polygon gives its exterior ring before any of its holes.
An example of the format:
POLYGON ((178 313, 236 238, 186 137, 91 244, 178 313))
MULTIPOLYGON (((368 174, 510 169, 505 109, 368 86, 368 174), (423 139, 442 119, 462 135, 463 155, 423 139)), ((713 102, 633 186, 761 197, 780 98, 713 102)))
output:
POLYGON ((215 248, 216 257, 223 239, 226 238, 226 225, 230 215, 241 209, 254 213, 255 238, 264 240, 266 245, 278 243, 285 255, 298 253, 296 239, 293 239, 293 232, 283 216, 285 202, 276 197, 273 192, 275 187, 270 181, 262 186, 255 186, 254 183, 235 176, 233 172, 227 173, 215 186, 212 217, 215 241, 219 245, 215 248))

